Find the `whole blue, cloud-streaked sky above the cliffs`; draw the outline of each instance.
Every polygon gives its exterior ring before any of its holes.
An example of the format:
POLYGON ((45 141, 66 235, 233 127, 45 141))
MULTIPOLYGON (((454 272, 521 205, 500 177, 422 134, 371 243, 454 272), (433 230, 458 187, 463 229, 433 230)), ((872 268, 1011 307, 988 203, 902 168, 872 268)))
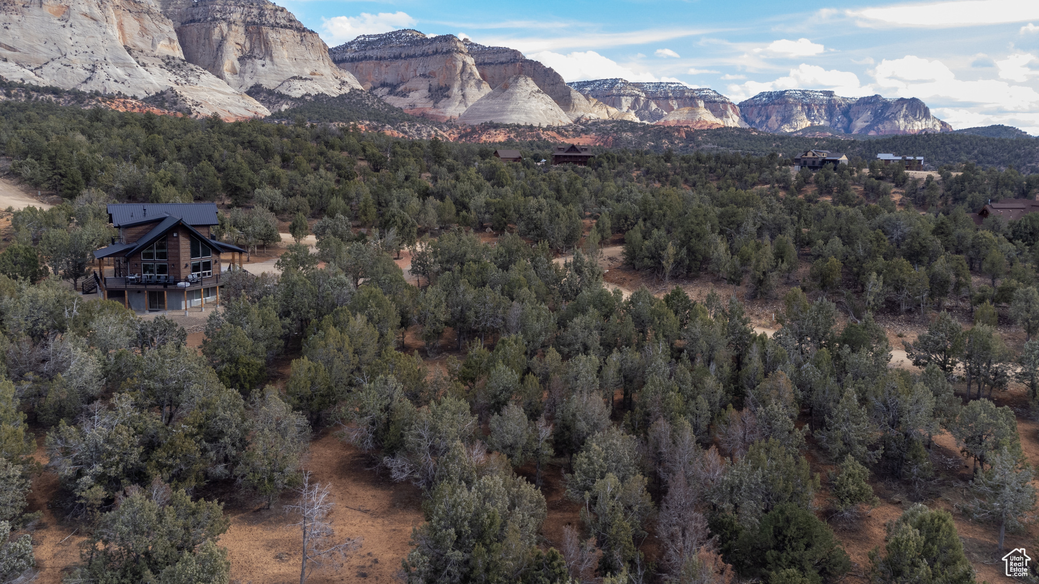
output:
POLYGON ((1039 0, 276 1, 329 47, 414 28, 517 49, 566 81, 920 98, 957 129, 1039 135, 1039 0))

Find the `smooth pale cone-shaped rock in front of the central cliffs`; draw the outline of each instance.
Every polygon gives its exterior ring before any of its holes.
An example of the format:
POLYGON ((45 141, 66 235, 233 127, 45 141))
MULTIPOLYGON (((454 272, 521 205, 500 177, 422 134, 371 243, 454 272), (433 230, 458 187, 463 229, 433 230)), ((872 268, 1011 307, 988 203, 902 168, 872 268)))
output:
POLYGON ((565 126, 570 118, 526 75, 513 75, 458 116, 460 124, 530 124, 565 126))

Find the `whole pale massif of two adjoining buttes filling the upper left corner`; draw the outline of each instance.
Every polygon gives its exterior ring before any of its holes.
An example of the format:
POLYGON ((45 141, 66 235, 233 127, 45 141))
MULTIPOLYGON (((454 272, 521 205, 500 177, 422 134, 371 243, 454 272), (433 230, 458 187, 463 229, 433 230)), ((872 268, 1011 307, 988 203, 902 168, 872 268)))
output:
POLYGON ((340 95, 361 85, 267 0, 0 0, 0 76, 65 89, 161 96, 227 118, 269 115, 242 92, 340 95))

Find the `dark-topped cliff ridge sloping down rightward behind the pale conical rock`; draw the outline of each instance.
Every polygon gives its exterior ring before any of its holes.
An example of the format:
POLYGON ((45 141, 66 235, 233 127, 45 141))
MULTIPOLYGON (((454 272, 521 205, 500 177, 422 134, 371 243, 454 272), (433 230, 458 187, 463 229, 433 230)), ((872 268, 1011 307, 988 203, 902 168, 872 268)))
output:
POLYGON ((477 71, 491 87, 498 87, 515 75, 529 77, 552 101, 556 102, 566 115, 579 120, 638 120, 628 112, 621 112, 594 98, 586 97, 572 89, 551 67, 528 59, 515 49, 506 47, 485 47, 465 42, 465 49, 476 62, 477 71))

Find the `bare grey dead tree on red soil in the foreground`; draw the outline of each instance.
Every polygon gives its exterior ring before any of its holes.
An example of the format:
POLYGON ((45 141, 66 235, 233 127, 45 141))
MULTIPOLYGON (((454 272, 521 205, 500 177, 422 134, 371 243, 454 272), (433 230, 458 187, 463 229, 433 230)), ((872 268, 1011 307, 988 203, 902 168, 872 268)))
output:
POLYGON ((295 505, 286 505, 286 512, 299 517, 299 522, 291 524, 299 526, 303 536, 302 560, 299 564, 299 584, 307 584, 314 568, 326 563, 342 565, 347 552, 361 548, 359 537, 350 537, 342 542, 336 542, 336 531, 331 527, 328 512, 332 505, 329 490, 330 484, 322 485, 311 482, 311 474, 303 474, 303 484, 296 488, 299 499, 295 505))

